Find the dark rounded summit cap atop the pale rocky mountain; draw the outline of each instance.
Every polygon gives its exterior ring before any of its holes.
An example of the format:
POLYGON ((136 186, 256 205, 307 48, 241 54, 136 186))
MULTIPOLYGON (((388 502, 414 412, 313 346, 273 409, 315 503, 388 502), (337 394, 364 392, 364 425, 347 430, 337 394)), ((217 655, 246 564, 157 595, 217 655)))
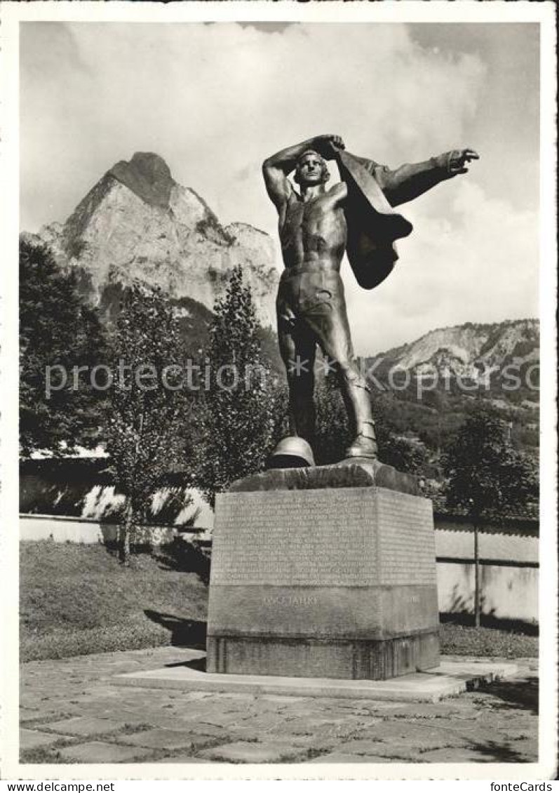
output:
POLYGON ((170 191, 175 182, 163 157, 152 151, 136 151, 129 163, 121 160, 109 174, 147 204, 169 209, 170 191))

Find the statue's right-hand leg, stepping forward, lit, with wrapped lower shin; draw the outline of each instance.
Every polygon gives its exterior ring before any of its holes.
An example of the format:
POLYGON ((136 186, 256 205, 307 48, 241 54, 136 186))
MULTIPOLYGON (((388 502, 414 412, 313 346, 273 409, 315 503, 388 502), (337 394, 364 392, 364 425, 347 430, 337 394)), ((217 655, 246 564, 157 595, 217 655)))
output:
POLYGON ((369 387, 355 362, 343 283, 339 274, 325 274, 322 287, 317 292, 319 299, 311 310, 305 312, 304 318, 339 378, 350 430, 354 435, 354 442, 346 455, 376 458, 377 442, 369 387))

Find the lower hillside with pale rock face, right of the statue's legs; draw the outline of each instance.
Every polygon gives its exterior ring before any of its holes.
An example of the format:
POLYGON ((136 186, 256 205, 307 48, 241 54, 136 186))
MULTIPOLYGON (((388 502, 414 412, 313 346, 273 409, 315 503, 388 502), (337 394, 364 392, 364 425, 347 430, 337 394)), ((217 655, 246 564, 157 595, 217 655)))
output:
POLYGON ((444 445, 482 400, 509 423, 521 448, 537 454, 538 320, 438 328, 365 358, 363 366, 377 407, 402 435, 431 450, 444 445))

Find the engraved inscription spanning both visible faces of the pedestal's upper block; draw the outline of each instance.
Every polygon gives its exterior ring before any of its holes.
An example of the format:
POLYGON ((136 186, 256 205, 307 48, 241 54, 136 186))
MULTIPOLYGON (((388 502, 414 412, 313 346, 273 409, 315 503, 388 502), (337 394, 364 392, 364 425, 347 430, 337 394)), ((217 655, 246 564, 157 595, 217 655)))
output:
POLYGON ((434 534, 429 501, 383 488, 226 493, 212 584, 432 585, 434 534))

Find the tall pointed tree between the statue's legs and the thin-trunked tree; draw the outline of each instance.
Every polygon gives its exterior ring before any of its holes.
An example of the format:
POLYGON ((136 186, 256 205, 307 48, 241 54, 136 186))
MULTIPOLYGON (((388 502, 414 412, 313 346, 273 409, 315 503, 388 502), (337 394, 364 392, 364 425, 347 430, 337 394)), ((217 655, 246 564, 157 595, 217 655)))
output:
POLYGON ((262 354, 251 289, 240 266, 213 310, 194 473, 194 484, 212 505, 216 492, 263 468, 278 438, 285 398, 262 354))

